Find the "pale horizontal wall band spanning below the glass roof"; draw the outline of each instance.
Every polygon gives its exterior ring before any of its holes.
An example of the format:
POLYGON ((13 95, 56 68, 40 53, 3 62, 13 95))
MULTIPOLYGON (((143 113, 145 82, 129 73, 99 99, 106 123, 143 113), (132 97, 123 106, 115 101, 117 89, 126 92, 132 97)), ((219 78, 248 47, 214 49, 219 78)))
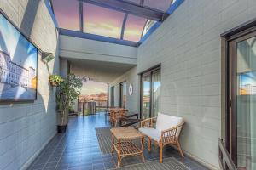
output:
POLYGON ((60 36, 60 56, 122 64, 137 64, 137 48, 79 37, 60 36))

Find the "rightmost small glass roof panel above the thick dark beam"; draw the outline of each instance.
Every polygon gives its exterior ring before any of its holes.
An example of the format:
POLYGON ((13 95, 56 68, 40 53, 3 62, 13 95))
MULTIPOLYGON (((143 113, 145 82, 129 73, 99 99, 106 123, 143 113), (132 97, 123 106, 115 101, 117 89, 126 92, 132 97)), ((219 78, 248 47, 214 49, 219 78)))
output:
POLYGON ((171 0, 144 0, 143 6, 149 8, 156 8, 160 11, 166 12, 170 7, 171 0))

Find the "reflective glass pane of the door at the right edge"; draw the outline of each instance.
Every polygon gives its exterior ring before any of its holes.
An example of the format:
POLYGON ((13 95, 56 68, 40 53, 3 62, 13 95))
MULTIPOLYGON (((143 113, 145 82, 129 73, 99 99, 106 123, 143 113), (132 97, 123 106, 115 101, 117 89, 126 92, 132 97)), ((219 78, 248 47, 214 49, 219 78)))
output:
POLYGON ((237 166, 256 169, 256 38, 237 43, 237 166))

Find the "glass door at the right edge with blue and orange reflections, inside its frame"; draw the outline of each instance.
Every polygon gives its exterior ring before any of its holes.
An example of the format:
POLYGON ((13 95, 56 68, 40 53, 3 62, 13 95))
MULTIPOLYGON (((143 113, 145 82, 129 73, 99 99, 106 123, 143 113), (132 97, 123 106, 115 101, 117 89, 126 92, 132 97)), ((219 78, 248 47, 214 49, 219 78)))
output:
POLYGON ((256 37, 230 42, 230 155, 237 167, 256 169, 256 37))

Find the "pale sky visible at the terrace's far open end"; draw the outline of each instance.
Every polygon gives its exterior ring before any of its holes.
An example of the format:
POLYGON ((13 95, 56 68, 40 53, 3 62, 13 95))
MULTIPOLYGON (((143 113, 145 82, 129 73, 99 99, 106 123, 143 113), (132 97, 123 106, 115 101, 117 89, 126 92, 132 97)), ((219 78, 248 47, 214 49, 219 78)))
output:
POLYGON ((100 93, 108 93, 108 84, 104 82, 94 82, 87 81, 83 82, 83 87, 81 90, 81 94, 100 94, 100 93))

